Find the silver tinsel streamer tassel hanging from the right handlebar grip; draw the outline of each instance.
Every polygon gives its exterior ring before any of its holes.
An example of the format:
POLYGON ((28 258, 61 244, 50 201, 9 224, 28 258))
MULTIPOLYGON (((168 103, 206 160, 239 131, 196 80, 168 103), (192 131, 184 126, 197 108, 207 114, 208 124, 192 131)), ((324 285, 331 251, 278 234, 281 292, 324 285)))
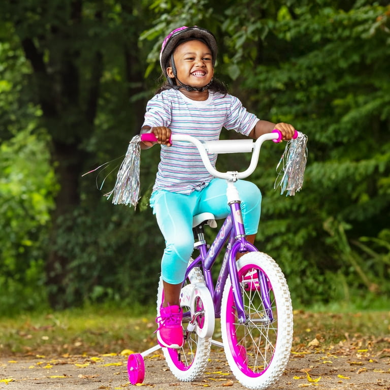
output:
POLYGON ((294 196, 302 188, 307 161, 307 136, 298 132, 298 137, 287 142, 276 167, 277 177, 274 188, 281 187, 281 194, 294 196))

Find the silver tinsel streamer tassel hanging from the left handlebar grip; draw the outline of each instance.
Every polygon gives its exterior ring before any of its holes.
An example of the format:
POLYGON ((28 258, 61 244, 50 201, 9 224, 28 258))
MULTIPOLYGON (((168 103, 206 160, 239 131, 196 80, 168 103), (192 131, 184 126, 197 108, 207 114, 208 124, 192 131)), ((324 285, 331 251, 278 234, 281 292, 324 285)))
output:
POLYGON ((136 207, 140 193, 140 154, 141 136, 137 135, 128 144, 126 155, 116 176, 114 188, 105 196, 114 205, 131 205, 136 207))

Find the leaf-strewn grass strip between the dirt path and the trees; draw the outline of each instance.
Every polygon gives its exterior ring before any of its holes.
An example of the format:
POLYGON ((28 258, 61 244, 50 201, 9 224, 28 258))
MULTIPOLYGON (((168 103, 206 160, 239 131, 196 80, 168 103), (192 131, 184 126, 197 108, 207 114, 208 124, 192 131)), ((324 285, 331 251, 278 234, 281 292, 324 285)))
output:
MULTIPOLYGON (((51 313, 26 313, 0 319, 0 354, 65 355, 143 351, 156 343, 154 308, 88 306, 51 313)), ((385 348, 390 341, 390 311, 336 310, 294 313, 293 350, 316 339, 323 348, 346 341, 385 348)))

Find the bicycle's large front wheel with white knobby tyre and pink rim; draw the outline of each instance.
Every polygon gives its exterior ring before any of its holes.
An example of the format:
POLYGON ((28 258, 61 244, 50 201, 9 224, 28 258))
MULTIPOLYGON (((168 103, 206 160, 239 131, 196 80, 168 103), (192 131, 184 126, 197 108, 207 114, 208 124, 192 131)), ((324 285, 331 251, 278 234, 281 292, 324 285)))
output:
POLYGON ((262 252, 237 262, 246 320, 238 321, 230 278, 222 296, 221 332, 226 359, 237 380, 265 389, 282 375, 293 341, 293 309, 284 275, 262 252))

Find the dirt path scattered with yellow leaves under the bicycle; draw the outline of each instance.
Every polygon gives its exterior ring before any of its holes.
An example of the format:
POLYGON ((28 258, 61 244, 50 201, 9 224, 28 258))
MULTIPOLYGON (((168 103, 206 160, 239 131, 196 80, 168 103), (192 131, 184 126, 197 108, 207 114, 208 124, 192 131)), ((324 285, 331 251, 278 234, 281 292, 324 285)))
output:
MULTIPOLYGON (((204 375, 196 382, 177 381, 160 350, 145 358, 145 388, 230 387, 244 389, 230 372, 222 351, 213 349, 204 375)), ((127 379, 126 355, 8 356, 0 359, 0 389, 123 389, 127 379)), ((372 353, 367 349, 293 352, 277 390, 316 386, 326 390, 389 390, 390 349, 372 353)))

